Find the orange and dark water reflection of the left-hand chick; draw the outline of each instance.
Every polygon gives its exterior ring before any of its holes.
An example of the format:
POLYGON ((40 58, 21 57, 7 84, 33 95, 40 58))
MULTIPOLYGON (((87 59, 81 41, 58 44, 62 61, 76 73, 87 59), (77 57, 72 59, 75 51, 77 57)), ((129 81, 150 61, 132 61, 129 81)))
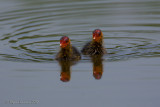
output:
POLYGON ((71 79, 71 62, 70 61, 59 61, 61 66, 60 80, 63 82, 69 82, 71 79))

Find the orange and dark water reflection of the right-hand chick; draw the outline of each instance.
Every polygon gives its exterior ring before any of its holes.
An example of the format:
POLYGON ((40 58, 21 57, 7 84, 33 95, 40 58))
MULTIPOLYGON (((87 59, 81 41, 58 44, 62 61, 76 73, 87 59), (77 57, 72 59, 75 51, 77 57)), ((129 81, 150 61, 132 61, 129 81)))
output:
POLYGON ((93 76, 95 79, 101 79, 103 74, 102 55, 94 55, 91 58, 93 62, 93 76))

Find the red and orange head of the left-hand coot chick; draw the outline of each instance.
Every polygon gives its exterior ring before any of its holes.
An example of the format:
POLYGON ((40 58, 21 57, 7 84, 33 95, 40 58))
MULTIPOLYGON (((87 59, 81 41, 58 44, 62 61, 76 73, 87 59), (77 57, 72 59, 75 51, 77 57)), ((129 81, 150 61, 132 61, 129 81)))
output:
POLYGON ((61 48, 66 48, 66 47, 69 47, 69 46, 70 46, 70 39, 69 39, 69 37, 63 36, 60 39, 60 47, 61 48))

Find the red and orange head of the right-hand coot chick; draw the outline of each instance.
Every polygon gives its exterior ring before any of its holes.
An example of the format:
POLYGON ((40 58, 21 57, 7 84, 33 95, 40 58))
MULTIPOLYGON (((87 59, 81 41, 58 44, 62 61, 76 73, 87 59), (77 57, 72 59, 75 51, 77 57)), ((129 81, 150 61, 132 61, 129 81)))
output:
POLYGON ((101 42, 103 37, 103 33, 100 29, 95 29, 93 31, 93 41, 95 42, 101 42))

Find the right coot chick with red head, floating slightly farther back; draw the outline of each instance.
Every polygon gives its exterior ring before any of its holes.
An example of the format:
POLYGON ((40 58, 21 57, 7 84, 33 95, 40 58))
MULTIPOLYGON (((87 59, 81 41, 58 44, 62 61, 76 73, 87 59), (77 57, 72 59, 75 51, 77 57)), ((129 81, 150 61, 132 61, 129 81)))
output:
POLYGON ((81 50, 84 55, 103 55, 106 50, 103 46, 103 33, 100 29, 93 31, 92 41, 88 42, 81 50))

